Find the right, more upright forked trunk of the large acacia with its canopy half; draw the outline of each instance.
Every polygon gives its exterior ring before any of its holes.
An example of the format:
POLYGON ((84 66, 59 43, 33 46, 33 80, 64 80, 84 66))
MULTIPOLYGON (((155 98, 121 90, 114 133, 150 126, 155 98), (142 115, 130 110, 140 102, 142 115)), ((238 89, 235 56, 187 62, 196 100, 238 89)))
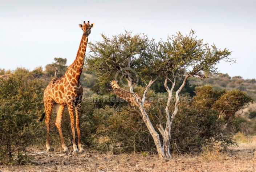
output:
POLYGON ((215 45, 209 46, 203 43, 203 39, 197 39, 194 31, 187 35, 178 32, 176 35, 168 36, 167 41, 158 43, 155 54, 159 60, 161 75, 165 78, 164 87, 168 93, 165 108, 166 125, 159 123, 158 130, 163 137, 163 150, 167 157, 170 155, 171 125, 178 113, 179 93, 183 89, 189 77, 204 79, 209 74, 217 74, 216 64, 221 60, 233 61, 228 56, 231 54, 227 49, 219 50, 215 45), (183 77, 182 85, 174 90, 176 79, 183 77), (167 83, 171 83, 171 88, 167 83), (175 91, 175 104, 170 115, 172 93, 175 91))

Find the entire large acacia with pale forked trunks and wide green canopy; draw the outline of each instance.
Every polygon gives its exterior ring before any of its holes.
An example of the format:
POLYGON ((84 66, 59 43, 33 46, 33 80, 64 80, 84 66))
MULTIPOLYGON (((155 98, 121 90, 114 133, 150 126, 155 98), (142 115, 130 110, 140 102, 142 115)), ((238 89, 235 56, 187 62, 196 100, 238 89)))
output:
POLYGON ((143 121, 154 139, 159 157, 171 158, 171 124, 178 112, 180 91, 189 77, 204 78, 206 74, 216 74, 215 65, 221 60, 231 61, 228 58, 231 52, 227 49, 218 50, 215 45, 210 47, 203 44, 203 40, 196 39, 193 31, 185 36, 177 33, 168 37, 167 41, 161 40, 157 44, 144 34, 131 36, 131 32, 127 31, 111 38, 102 34, 102 38, 102 42, 96 41, 89 45, 91 52, 86 58, 89 69, 96 73, 102 83, 111 81, 118 74, 121 75, 121 79, 125 78, 130 92, 138 103, 143 121), (164 87, 168 92, 166 123, 160 121, 157 125, 163 143, 160 142, 159 134, 143 106, 147 92, 159 77, 165 78, 164 87), (175 91, 176 79, 181 77, 184 79, 176 90, 174 111, 170 115, 172 92, 175 91), (133 83, 137 83, 138 79, 145 85, 141 101, 133 91, 133 83), (168 87, 168 83, 171 83, 171 88, 168 87))

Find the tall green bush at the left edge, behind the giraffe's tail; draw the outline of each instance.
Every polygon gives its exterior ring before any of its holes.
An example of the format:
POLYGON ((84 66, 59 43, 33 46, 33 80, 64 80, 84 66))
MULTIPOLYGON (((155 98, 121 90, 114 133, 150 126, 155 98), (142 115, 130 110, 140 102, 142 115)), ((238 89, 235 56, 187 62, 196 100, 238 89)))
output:
MULTIPOLYGON (((21 71, 21 70, 17 70, 21 71)), ((23 71, 23 70, 22 70, 23 71)), ((0 78, 0 159, 12 163, 13 154, 23 163, 25 148, 36 138, 37 114, 42 108, 44 84, 32 75, 0 78)))

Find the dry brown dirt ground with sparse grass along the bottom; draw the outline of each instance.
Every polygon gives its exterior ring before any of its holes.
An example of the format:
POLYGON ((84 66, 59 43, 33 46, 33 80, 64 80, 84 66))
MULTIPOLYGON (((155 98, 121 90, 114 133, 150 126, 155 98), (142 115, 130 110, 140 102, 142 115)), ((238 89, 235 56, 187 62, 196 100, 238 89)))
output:
MULTIPOLYGON (((157 155, 123 153, 113 155, 86 150, 83 154, 67 155, 58 151, 33 156, 32 165, 0 165, 0 171, 17 172, 249 172, 256 171, 256 142, 241 143, 227 152, 205 151, 200 155, 173 155, 159 159, 157 155)), ((32 149, 31 149, 32 151, 32 149)))

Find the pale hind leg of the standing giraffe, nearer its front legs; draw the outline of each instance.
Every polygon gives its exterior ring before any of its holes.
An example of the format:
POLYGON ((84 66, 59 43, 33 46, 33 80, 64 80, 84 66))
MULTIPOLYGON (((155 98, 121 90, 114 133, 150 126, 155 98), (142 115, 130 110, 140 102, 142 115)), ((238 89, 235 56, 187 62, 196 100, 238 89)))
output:
POLYGON ((62 129, 61 129, 62 114, 63 114, 65 106, 64 105, 58 105, 58 104, 54 104, 54 106, 55 106, 56 111, 57 111, 55 125, 58 128, 58 131, 60 133, 61 147, 63 148, 63 151, 66 152, 66 151, 68 151, 68 147, 66 147, 66 145, 64 143, 64 138, 63 138, 62 129))

